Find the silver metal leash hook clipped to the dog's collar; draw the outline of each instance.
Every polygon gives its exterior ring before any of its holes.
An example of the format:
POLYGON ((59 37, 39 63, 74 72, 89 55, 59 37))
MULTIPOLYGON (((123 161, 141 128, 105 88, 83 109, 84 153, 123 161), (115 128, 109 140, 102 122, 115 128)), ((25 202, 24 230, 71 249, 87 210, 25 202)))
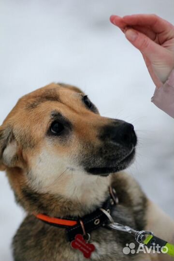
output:
POLYGON ((129 226, 124 226, 122 224, 116 223, 114 222, 114 219, 111 217, 111 215, 103 208, 101 208, 101 211, 108 217, 110 223, 107 224, 107 227, 114 229, 114 230, 118 230, 118 231, 123 231, 123 232, 127 232, 132 234, 135 237, 135 240, 139 243, 139 244, 143 244, 144 240, 145 240, 145 235, 146 234, 150 234, 153 235, 153 232, 149 232, 149 231, 137 231, 132 229, 129 226))

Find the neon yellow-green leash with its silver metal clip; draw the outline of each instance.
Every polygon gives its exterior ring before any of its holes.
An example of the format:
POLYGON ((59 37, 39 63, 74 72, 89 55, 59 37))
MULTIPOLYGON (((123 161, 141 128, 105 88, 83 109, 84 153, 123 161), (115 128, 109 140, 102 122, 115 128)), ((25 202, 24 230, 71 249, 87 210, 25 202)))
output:
POLYGON ((110 223, 107 224, 107 227, 118 230, 122 232, 130 233, 136 240, 137 243, 141 246, 147 246, 148 248, 153 247, 158 253, 168 254, 174 257, 174 245, 168 243, 167 241, 157 237, 153 232, 150 231, 136 231, 129 226, 124 226, 122 224, 114 222, 111 215, 102 209, 102 212, 108 217, 110 223))

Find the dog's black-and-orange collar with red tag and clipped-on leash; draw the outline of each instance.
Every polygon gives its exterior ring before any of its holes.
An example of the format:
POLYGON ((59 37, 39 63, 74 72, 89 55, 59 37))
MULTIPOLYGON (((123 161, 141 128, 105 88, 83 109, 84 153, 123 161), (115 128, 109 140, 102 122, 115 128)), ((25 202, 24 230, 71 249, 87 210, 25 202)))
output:
POLYGON ((136 231, 129 226, 114 222, 111 215, 113 207, 118 204, 118 197, 114 188, 110 187, 109 192, 109 197, 102 207, 84 217, 58 218, 44 214, 33 215, 49 225, 66 228, 67 239, 71 242, 71 246, 80 250, 86 258, 90 258, 95 250, 95 246, 88 243, 90 232, 99 227, 130 233, 139 245, 153 247, 158 253, 167 253, 174 257, 174 245, 155 236, 153 232, 136 231))

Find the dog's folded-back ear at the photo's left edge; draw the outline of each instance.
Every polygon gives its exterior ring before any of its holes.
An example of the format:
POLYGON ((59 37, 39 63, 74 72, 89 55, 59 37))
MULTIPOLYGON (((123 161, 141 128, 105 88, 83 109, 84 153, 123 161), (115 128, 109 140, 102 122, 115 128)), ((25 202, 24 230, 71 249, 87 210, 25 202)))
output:
POLYGON ((12 128, 0 126, 0 171, 16 166, 17 161, 17 144, 12 128))

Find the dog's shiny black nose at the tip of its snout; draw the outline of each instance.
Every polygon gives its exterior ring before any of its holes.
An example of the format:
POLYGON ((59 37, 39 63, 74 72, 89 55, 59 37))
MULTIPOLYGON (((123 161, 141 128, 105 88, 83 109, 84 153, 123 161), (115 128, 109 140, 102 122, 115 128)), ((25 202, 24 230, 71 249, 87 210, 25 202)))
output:
POLYGON ((124 122, 114 127, 111 136, 111 140, 123 145, 136 145, 137 138, 132 124, 124 122))

